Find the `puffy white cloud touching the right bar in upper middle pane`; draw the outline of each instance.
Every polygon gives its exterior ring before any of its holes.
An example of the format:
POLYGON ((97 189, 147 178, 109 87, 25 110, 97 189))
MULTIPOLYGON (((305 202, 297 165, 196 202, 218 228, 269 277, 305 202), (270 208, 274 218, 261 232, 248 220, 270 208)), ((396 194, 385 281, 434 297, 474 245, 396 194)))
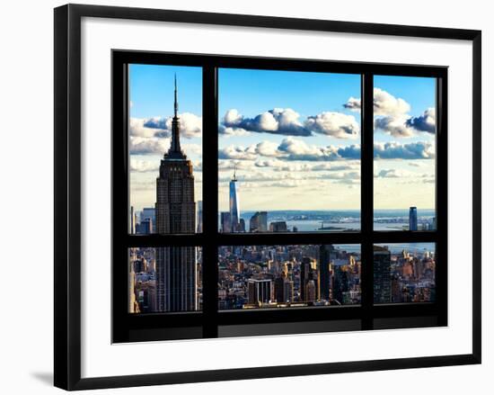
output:
POLYGON ((357 139, 360 126, 353 115, 341 112, 321 112, 307 117, 305 128, 337 139, 357 139))

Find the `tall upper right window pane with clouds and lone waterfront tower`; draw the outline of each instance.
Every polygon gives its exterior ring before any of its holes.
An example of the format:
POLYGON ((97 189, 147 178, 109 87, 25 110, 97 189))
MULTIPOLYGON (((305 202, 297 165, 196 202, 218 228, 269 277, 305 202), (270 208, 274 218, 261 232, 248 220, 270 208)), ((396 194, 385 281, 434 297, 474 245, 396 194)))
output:
POLYGON ((436 78, 374 86, 374 229, 436 229, 436 78))

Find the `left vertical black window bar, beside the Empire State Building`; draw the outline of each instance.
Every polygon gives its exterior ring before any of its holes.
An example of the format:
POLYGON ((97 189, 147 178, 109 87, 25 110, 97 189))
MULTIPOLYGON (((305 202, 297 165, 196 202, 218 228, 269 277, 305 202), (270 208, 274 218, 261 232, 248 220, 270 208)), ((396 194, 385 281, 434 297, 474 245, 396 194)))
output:
POLYGON ((214 62, 202 69, 203 111, 203 232, 202 294, 203 337, 217 337, 217 212, 218 212, 218 113, 217 68, 214 62))

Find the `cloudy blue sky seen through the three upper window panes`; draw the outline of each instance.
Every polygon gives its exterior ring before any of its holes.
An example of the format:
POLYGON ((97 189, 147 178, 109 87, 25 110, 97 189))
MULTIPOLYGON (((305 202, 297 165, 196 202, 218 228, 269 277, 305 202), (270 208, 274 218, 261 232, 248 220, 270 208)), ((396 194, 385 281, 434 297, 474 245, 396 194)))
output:
MULTIPOLYGON (((137 210, 154 205, 174 74, 181 145, 194 166, 196 200, 202 196, 200 67, 131 65, 130 194, 137 210)), ((223 68, 218 76, 220 211, 227 210, 234 167, 241 210, 359 208, 359 75, 223 68)), ((375 208, 434 208, 435 114, 428 109, 435 107, 435 79, 376 76, 375 88, 375 143, 393 144, 375 160, 375 208)))

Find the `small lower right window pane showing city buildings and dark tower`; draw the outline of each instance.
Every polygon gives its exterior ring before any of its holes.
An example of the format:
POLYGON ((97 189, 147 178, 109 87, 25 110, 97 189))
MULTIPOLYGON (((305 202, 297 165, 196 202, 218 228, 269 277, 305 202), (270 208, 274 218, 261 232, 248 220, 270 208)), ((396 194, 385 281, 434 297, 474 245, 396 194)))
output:
POLYGON ((374 302, 436 301, 435 243, 374 246, 374 302))

